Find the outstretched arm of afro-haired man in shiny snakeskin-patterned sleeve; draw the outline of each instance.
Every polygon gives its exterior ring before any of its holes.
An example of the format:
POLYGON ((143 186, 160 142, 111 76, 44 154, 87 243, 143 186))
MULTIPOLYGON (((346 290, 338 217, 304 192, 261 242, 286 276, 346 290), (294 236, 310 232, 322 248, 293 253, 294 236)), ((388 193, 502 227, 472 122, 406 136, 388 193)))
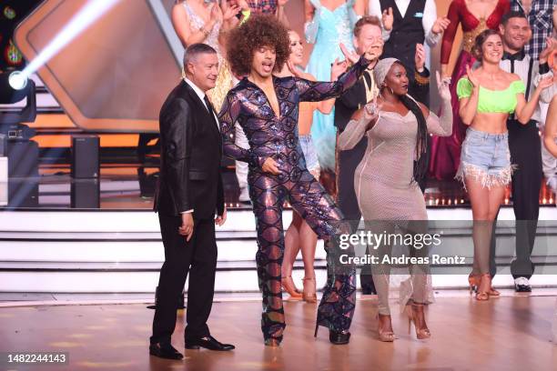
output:
POLYGON ((368 65, 370 65, 370 61, 361 56, 355 65, 352 65, 345 74, 340 75, 339 79, 333 82, 316 82, 296 77, 299 100, 301 102, 319 102, 341 95, 358 81, 368 65))

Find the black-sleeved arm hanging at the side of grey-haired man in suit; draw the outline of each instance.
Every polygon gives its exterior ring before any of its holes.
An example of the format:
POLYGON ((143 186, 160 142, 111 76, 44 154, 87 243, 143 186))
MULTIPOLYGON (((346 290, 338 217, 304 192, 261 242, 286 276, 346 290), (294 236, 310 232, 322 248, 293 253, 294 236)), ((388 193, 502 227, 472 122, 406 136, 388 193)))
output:
POLYGON ((175 99, 160 113, 160 137, 164 149, 164 173, 170 198, 178 212, 192 209, 189 201, 189 155, 191 123, 189 105, 183 99, 175 99))

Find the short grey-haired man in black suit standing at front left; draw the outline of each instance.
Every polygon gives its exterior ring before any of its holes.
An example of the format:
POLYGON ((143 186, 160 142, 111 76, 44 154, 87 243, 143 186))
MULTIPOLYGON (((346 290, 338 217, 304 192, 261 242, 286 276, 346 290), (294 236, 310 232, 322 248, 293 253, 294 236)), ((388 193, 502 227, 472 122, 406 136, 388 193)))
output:
POLYGON ((234 349, 210 336, 207 326, 217 267, 215 224, 222 226, 226 220, 218 120, 205 95, 217 81, 217 52, 205 44, 188 46, 184 70, 184 81, 160 111, 161 165, 154 206, 165 263, 149 353, 170 359, 183 357, 170 344, 170 336, 188 271, 186 348, 234 349))

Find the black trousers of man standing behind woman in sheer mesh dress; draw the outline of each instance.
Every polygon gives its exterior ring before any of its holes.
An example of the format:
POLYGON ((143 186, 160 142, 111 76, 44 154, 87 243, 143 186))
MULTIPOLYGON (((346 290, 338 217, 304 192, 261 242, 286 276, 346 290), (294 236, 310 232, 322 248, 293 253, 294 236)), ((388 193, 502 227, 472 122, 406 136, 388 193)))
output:
MULTIPOLYGON (((363 138, 358 145, 348 151, 339 152, 339 167, 337 172, 337 204, 344 218, 349 221, 351 233, 356 233, 360 226, 360 206, 354 190, 354 174, 360 165, 368 147, 368 139, 363 138)), ((366 247, 366 255, 370 251, 366 247)), ((371 266, 363 266, 360 271, 360 285, 364 292, 376 293, 371 276, 371 266)))

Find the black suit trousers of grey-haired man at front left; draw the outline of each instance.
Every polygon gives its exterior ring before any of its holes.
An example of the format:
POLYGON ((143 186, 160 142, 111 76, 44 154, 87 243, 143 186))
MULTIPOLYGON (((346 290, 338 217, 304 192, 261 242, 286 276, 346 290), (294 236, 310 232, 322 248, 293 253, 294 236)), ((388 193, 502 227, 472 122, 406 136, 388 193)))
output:
POLYGON ((182 224, 179 216, 159 214, 160 233, 165 246, 165 263, 158 279, 157 309, 153 319, 153 343, 169 343, 176 326, 176 311, 180 295, 187 286, 186 339, 209 335, 208 316, 213 305, 217 242, 212 219, 194 220, 193 236, 186 241, 178 234, 182 224))

